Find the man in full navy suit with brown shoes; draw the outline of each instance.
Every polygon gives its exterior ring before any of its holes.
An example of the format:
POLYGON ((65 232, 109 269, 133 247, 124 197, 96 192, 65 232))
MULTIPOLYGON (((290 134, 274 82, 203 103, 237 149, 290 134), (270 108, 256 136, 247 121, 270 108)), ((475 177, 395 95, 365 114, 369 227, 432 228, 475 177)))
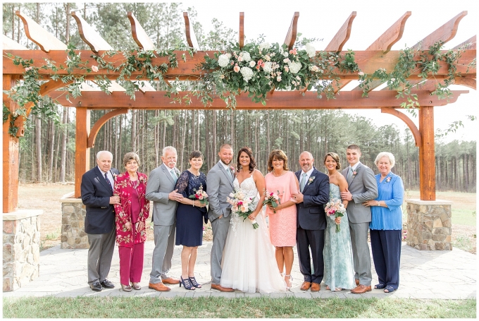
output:
POLYGON ((297 201, 296 242, 299 258, 299 270, 304 282, 301 291, 321 290, 324 275, 324 231, 326 214, 324 205, 329 200, 329 177, 313 167, 314 159, 310 152, 299 155, 299 166, 296 177, 299 181, 300 193, 292 195, 297 201), (311 274, 311 258, 313 257, 314 273, 311 274))

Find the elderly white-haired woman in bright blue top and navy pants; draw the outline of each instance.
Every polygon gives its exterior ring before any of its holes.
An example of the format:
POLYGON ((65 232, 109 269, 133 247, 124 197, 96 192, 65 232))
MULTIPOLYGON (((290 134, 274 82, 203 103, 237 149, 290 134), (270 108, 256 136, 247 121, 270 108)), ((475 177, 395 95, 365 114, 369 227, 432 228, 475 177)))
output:
POLYGON ((384 289, 385 293, 390 293, 399 287, 404 185, 401 177, 391 173, 394 155, 380 152, 374 162, 380 172, 375 176, 378 198, 363 204, 371 207, 371 250, 379 280, 374 289, 384 289))

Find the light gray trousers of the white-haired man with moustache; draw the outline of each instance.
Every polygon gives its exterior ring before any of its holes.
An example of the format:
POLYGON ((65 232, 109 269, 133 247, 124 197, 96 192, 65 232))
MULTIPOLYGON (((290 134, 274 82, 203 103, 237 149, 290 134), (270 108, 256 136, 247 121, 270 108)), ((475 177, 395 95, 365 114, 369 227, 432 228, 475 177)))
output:
POLYGON ((154 225, 155 248, 151 259, 153 267, 151 267, 149 283, 160 283, 162 282, 161 279, 169 277, 167 274, 170 271, 173 250, 175 250, 175 231, 176 223, 173 225, 154 225))

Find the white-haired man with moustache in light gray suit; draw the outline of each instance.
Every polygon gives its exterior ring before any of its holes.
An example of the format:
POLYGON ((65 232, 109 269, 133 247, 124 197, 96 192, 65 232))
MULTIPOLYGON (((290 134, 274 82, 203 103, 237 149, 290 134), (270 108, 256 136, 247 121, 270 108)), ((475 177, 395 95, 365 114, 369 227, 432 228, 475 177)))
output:
POLYGON ((154 239, 153 267, 151 268, 149 289, 170 291, 165 284, 179 284, 180 280, 168 276, 171 258, 175 248, 175 219, 178 200, 183 196, 174 190, 180 171, 175 167, 177 152, 175 147, 163 148, 163 164, 149 174, 147 200, 153 201, 154 239))

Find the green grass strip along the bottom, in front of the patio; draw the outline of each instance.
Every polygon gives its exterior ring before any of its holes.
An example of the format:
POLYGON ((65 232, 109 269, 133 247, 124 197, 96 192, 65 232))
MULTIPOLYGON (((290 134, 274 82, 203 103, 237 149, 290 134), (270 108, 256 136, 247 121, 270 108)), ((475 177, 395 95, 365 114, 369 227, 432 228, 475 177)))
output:
POLYGON ((4 317, 475 318, 475 300, 394 298, 4 298, 4 317))

